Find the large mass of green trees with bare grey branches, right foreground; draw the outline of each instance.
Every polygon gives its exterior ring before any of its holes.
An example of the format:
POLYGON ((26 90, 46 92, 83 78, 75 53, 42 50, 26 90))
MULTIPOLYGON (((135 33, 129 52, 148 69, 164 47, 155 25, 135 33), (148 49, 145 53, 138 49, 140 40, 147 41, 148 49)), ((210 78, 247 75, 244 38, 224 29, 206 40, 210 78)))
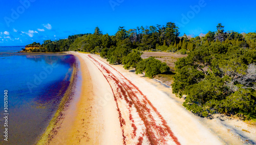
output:
POLYGON ((222 43, 202 45, 176 62, 173 93, 188 110, 255 115, 256 51, 222 43))

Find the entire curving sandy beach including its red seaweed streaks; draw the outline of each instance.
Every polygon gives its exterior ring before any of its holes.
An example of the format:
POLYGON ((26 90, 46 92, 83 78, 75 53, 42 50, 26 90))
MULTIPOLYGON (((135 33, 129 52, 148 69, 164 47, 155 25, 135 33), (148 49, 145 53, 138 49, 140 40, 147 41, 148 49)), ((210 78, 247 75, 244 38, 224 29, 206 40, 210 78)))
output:
POLYGON ((154 79, 109 65, 97 55, 69 53, 80 62, 79 95, 65 110, 49 144, 244 144, 244 139, 256 140, 255 128, 242 121, 196 117, 154 79), (231 122, 237 130, 228 130, 231 122), (245 128, 250 133, 241 134, 239 129, 245 128))

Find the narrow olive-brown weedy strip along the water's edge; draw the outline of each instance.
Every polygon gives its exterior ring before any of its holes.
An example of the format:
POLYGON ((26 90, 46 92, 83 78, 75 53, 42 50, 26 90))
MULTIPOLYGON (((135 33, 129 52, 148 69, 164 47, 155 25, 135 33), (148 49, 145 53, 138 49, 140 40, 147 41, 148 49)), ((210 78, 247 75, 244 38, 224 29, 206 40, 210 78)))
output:
POLYGON ((70 78, 70 84, 68 89, 66 90, 64 96, 62 97, 60 103, 58 104, 58 109, 53 114, 53 118, 51 119, 49 125, 45 128, 45 131, 38 137, 35 144, 47 144, 56 135, 58 128, 60 127, 63 121, 63 112, 69 107, 70 102, 73 100, 75 87, 78 79, 78 62, 73 66, 73 72, 70 78))

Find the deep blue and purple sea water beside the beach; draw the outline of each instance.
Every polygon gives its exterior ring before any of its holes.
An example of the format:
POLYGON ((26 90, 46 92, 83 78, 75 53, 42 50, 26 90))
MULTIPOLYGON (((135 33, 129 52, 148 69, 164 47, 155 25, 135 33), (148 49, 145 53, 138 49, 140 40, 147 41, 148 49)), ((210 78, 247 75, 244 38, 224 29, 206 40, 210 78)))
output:
POLYGON ((69 84, 76 59, 64 53, 17 53, 0 47, 0 144, 34 144, 48 126, 69 84), (5 90, 8 141, 5 141, 5 90))

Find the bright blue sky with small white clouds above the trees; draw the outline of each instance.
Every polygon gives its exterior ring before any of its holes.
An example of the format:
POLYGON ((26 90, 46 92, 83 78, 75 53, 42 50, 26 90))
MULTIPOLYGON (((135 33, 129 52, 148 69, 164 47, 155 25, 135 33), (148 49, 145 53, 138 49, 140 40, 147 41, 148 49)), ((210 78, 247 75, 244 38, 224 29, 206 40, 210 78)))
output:
POLYGON ((129 30, 170 21, 178 23, 181 35, 198 36, 216 31, 218 23, 225 26, 225 31, 256 31, 256 1, 253 0, 20 1, 26 3, 0 1, 0 46, 93 33, 96 26, 103 34, 114 35, 118 26, 129 30), (191 7, 196 9, 193 11, 191 7))

